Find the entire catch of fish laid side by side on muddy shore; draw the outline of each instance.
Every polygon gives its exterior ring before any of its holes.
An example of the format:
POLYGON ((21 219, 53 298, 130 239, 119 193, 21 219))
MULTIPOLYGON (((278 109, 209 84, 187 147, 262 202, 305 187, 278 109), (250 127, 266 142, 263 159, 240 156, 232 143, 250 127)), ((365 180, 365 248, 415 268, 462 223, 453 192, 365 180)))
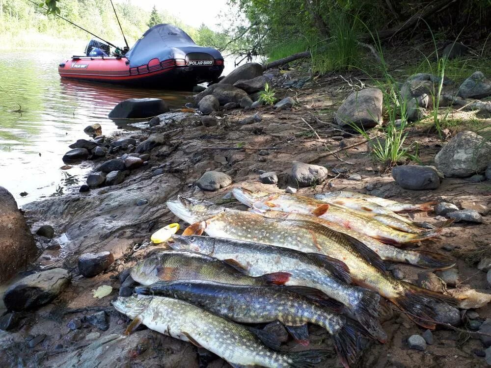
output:
POLYGON ((329 351, 279 351, 264 330, 243 325, 281 322, 300 344, 308 323, 332 337, 344 367, 354 365, 363 339, 385 342, 381 297, 420 326, 436 327, 448 295, 393 278, 384 261, 445 269, 454 262, 437 253, 394 245, 439 236, 401 213, 431 210, 337 191, 315 198, 234 188, 249 207, 234 210, 184 198, 167 207, 190 224, 173 235, 170 249, 131 269, 134 294, 113 302, 133 319, 174 338, 204 347, 233 367, 313 367, 329 351), (206 233, 207 236, 203 236, 206 233))

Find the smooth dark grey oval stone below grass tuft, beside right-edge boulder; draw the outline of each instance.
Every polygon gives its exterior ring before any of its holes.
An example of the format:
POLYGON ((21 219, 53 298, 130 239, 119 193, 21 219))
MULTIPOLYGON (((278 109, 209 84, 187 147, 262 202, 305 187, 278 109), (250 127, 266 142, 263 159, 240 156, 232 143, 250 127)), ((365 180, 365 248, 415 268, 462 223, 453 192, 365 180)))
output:
POLYGON ((440 186, 440 177, 429 166, 401 165, 392 169, 392 178, 404 189, 426 190, 440 186))

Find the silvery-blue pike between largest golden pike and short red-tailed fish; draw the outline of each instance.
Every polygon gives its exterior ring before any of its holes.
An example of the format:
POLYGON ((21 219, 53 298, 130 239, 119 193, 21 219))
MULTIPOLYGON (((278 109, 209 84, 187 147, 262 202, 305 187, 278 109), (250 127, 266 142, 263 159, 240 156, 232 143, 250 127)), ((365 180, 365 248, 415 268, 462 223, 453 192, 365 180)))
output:
MULTIPOLYGON (((348 285, 351 282, 348 267, 337 259, 318 253, 304 253, 223 237, 173 235, 169 245, 174 249, 191 250, 231 262, 243 267, 251 276, 287 271, 291 277, 285 285, 321 290, 345 305, 372 336, 381 342, 387 338, 375 317, 379 314, 380 296, 371 290, 348 285)), ((297 292, 310 294, 305 289, 297 289, 297 292)))

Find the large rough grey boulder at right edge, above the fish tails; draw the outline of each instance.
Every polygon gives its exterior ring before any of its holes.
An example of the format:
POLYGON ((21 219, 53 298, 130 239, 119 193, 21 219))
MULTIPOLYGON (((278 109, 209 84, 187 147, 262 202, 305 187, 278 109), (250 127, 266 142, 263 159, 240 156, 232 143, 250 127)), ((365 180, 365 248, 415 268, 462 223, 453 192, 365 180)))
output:
POLYGON ((435 162, 446 177, 466 178, 486 170, 491 143, 472 131, 461 131, 436 154, 435 162))

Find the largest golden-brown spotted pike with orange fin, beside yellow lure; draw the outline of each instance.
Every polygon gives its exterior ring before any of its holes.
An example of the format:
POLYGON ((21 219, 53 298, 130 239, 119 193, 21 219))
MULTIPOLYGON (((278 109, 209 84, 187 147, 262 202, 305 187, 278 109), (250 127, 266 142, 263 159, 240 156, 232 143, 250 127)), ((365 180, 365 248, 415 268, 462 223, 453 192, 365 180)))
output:
POLYGON ((423 327, 435 328, 436 314, 432 308, 437 304, 456 304, 452 297, 385 274, 382 260, 371 249, 353 237, 315 222, 278 220, 246 211, 223 210, 184 198, 168 201, 167 206, 192 224, 183 235, 199 235, 206 231, 212 237, 257 241, 336 258, 353 271, 351 278, 356 285, 377 291, 423 327))

